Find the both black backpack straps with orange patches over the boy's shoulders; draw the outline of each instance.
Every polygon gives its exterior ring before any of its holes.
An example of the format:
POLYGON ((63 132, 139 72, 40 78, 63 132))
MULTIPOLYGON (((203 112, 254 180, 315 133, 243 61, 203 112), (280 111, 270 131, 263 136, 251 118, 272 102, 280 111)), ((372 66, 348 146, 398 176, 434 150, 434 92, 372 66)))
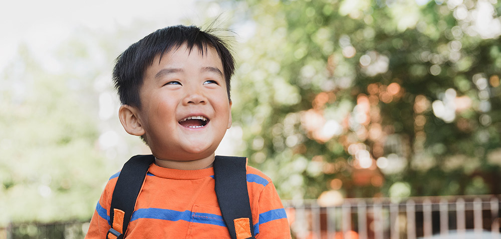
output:
MULTIPOLYGON (((124 164, 113 190, 111 228, 106 239, 124 238, 137 196, 154 161, 151 154, 136 155, 124 164)), ((217 202, 232 239, 255 239, 245 166, 245 157, 215 156, 213 164, 217 202)))

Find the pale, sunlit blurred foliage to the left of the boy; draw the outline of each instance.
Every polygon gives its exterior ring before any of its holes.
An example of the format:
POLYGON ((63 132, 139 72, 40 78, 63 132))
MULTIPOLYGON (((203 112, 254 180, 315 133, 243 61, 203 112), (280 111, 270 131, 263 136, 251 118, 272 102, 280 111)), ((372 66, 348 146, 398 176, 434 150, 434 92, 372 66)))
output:
POLYGON ((118 170, 98 142, 96 110, 96 88, 111 70, 106 60, 113 59, 103 55, 113 53, 96 51, 106 40, 86 42, 92 35, 82 30, 54 48, 20 44, 0 71, 2 226, 88 220, 104 183, 118 170))

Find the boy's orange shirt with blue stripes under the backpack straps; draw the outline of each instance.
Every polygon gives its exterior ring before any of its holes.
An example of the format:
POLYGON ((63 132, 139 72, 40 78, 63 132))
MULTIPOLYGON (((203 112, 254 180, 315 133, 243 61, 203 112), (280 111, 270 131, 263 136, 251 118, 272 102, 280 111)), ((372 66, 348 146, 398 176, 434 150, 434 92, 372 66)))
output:
MULTIPOLYGON (((118 174, 106 185, 85 238, 106 238, 118 174)), ((129 238, 230 238, 214 191, 213 168, 177 170, 152 164, 138 195, 129 238)), ((291 238, 287 215, 271 179, 247 166, 256 238, 291 238)))

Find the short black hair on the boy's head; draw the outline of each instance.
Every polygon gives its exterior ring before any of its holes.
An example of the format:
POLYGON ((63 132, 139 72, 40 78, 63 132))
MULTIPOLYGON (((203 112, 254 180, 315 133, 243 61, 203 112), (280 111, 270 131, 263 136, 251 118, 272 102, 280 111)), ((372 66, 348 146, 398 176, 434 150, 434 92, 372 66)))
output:
POLYGON ((144 72, 153 64, 156 56, 162 58, 170 50, 177 50, 186 44, 191 52, 194 47, 200 54, 207 53, 209 47, 216 50, 221 59, 228 99, 230 99, 230 78, 235 69, 234 59, 228 45, 212 34, 215 29, 202 31, 195 26, 172 26, 158 29, 145 38, 132 44, 116 59, 113 69, 113 82, 118 91, 120 102, 140 108, 139 90, 143 84, 144 72))

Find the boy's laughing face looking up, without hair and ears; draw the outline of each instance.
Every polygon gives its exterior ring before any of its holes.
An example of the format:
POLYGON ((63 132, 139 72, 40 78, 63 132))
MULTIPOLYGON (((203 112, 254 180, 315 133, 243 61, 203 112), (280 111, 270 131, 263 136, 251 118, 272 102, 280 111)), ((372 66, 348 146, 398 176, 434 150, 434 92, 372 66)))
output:
POLYGON ((221 60, 182 45, 153 60, 140 90, 138 119, 157 158, 175 161, 213 156, 231 126, 231 102, 221 60), (190 119, 191 117, 191 119, 190 119))

